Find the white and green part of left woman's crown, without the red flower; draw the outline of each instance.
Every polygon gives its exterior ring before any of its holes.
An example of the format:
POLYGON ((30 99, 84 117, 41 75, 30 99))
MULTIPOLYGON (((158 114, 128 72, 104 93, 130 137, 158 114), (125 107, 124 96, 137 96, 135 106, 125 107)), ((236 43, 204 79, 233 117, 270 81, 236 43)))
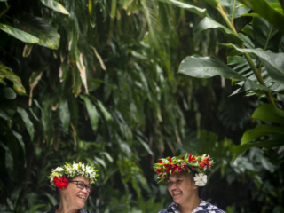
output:
POLYGON ((98 170, 94 169, 95 169, 94 165, 91 166, 89 166, 88 164, 84 165, 82 162, 79 163, 73 162, 73 164, 66 162, 66 165, 52 170, 51 175, 48 178, 51 179, 51 185, 55 186, 55 184, 53 183, 54 177, 74 178, 81 175, 89 178, 91 185, 95 183, 96 177, 99 176, 97 174, 98 170))

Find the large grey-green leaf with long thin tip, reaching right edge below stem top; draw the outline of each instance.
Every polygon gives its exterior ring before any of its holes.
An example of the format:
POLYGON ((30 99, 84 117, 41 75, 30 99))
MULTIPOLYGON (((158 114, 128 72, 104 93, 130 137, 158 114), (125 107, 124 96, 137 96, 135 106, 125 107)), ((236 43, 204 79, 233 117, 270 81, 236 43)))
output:
POLYGON ((268 74, 272 77, 275 82, 284 84, 284 53, 274 53, 272 51, 264 51, 262 49, 242 49, 238 48, 232 43, 225 44, 231 48, 242 53, 254 53, 263 62, 264 67, 268 74))

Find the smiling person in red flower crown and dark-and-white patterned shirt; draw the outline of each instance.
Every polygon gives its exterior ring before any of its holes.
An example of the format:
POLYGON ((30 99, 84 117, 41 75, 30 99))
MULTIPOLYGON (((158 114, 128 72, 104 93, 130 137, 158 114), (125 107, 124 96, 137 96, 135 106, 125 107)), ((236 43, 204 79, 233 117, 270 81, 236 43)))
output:
POLYGON ((162 158, 154 164, 159 183, 168 181, 168 190, 174 202, 159 213, 225 213, 211 203, 200 199, 201 187, 206 185, 206 170, 211 170, 213 160, 203 154, 190 154, 162 158))

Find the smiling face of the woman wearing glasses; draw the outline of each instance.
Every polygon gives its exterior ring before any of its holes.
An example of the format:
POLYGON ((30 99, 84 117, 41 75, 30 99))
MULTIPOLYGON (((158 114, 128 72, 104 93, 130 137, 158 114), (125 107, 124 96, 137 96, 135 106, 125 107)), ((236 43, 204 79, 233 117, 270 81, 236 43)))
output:
MULTIPOLYGON (((85 185, 90 184, 89 179, 84 176, 75 177, 72 181, 80 181, 85 185)), ((76 182, 70 182, 67 188, 62 189, 61 199, 67 203, 70 209, 82 209, 88 196, 86 187, 81 189, 77 187, 76 182)))

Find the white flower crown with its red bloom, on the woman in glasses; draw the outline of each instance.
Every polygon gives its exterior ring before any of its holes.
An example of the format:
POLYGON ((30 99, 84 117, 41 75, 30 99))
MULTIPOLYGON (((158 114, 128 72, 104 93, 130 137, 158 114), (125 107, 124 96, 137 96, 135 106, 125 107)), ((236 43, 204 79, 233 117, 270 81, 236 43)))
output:
POLYGON ((77 177, 79 175, 89 178, 90 185, 94 184, 96 177, 99 175, 96 173, 98 170, 94 170, 93 165, 85 166, 82 162, 67 163, 62 167, 58 167, 51 171, 51 175, 48 177, 51 179, 51 185, 59 187, 59 189, 65 188, 68 186, 69 181, 67 178, 77 177))

